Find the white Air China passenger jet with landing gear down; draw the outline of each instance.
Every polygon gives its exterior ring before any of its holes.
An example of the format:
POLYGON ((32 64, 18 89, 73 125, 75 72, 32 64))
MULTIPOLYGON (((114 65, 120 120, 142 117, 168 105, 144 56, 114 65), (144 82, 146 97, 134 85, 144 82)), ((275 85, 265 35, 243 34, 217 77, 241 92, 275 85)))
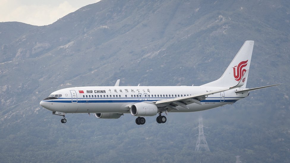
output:
POLYGON ((165 123, 161 113, 184 113, 208 110, 243 99, 250 91, 277 86, 246 88, 254 41, 246 41, 223 75, 201 86, 90 86, 65 88, 40 102, 54 115, 94 113, 97 118, 117 119, 136 116, 136 124, 145 124, 144 116, 158 114, 157 123, 165 123))

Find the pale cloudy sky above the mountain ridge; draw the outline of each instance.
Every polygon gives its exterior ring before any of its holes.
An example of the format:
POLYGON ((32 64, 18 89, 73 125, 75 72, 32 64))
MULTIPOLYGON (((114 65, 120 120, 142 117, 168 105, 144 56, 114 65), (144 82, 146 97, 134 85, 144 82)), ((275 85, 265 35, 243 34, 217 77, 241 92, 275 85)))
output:
POLYGON ((88 4, 100 0, 0 0, 0 22, 18 21, 49 25, 88 4))

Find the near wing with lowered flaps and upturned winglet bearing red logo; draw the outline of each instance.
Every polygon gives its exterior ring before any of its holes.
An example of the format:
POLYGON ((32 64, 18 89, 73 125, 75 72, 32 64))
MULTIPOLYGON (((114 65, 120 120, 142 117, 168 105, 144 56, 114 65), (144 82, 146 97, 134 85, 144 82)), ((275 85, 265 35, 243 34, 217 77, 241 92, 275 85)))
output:
MULTIPOLYGON (((248 70, 245 72, 242 79, 248 75, 248 72, 249 72, 248 70)), ((199 105, 202 105, 202 103, 200 101, 204 100, 207 95, 216 94, 216 93, 220 93, 223 91, 227 91, 230 89, 234 89, 234 88, 238 88, 238 87, 243 86, 244 82, 242 82, 242 79, 239 81, 239 83, 236 86, 233 86, 233 87, 225 87, 224 89, 219 89, 217 91, 205 92, 205 93, 201 93, 201 94, 194 94, 194 95, 184 96, 184 97, 177 97, 174 99, 159 100, 159 101, 156 101, 155 104, 167 104, 168 108, 174 109, 174 110, 178 110, 176 108, 176 106, 181 106, 181 107, 184 107, 186 109, 189 109, 187 107, 187 105, 191 104, 191 103, 197 103, 199 105)))

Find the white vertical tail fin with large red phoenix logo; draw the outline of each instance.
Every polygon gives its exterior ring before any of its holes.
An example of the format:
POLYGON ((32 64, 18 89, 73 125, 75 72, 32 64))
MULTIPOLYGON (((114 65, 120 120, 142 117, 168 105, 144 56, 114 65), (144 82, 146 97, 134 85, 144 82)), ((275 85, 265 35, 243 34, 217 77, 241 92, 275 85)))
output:
MULTIPOLYGON (((254 41, 245 41, 242 48, 239 50, 231 64, 228 66, 223 75, 215 81, 204 84, 202 86, 221 86, 231 87, 237 85, 245 74, 246 70, 250 68, 252 52, 254 47, 254 41)), ((242 88, 246 88, 248 74, 245 76, 244 85, 242 88)))

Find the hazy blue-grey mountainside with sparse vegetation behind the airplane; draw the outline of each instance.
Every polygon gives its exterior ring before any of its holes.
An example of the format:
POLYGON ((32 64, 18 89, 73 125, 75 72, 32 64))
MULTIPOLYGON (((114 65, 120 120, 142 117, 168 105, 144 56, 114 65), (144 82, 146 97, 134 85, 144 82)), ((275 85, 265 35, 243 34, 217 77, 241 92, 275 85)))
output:
POLYGON ((289 162, 288 1, 102 0, 48 26, 0 23, 1 162, 289 162), (234 105, 137 126, 39 102, 74 86, 198 86, 254 40, 248 88, 234 105), (211 150, 195 152, 199 117, 211 150))

